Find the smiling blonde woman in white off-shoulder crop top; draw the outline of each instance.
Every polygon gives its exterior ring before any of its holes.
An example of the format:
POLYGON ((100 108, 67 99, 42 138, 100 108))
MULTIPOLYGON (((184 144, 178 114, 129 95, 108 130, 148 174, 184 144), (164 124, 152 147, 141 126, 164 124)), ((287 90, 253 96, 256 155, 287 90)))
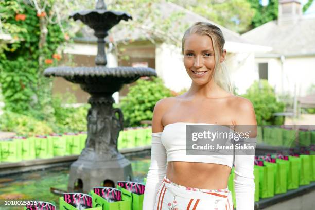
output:
POLYGON ((228 179, 233 164, 237 210, 254 209, 254 155, 185 155, 186 125, 256 125, 252 103, 231 93, 224 43, 220 28, 210 23, 197 22, 183 36, 191 86, 155 104, 143 210, 232 210, 228 179))

